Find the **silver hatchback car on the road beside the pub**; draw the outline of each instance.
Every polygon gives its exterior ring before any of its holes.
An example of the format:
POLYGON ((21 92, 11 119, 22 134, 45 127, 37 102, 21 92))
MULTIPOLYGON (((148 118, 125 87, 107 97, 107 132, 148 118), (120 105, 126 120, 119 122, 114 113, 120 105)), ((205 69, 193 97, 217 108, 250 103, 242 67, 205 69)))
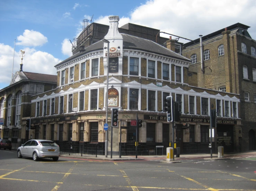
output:
POLYGON ((17 156, 18 158, 31 157, 34 161, 37 161, 39 158, 52 158, 54 161, 58 161, 60 147, 50 140, 29 140, 17 149, 17 156))

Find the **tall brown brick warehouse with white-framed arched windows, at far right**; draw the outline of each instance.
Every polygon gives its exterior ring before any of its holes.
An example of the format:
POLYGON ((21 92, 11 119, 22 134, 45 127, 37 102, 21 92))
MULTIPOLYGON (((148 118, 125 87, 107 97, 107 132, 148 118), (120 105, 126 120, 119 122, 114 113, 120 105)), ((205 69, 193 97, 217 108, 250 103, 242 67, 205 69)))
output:
MULTIPOLYGON (((197 73, 198 87, 240 95, 240 114, 219 112, 217 107, 220 117, 241 118, 241 129, 232 130, 239 143, 235 151, 255 150, 256 142, 256 41, 251 39, 248 28, 233 24, 201 36, 202 50, 198 38, 184 44, 182 51, 191 59, 188 71, 197 73)), ((225 104, 223 100, 220 103, 222 107, 225 104)))

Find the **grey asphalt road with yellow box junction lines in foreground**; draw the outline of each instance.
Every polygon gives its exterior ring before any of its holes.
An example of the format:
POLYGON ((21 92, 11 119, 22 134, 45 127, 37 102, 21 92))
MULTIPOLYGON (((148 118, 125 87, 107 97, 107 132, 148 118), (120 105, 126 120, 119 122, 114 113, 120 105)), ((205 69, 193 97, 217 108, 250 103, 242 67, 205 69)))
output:
POLYGON ((96 161, 60 157, 58 162, 17 158, 0 150, 0 190, 256 190, 256 160, 96 161))

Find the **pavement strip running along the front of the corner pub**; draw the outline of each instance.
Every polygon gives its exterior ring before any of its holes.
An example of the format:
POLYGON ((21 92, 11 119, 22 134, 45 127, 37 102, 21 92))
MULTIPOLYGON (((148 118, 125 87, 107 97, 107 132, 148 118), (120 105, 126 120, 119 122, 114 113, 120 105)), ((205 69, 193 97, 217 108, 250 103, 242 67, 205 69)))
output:
MULTIPOLYGON (((12 150, 17 150, 18 147, 12 147, 12 150)), ((95 156, 86 156, 86 155, 79 155, 79 154, 61 154, 60 157, 67 157, 67 158, 77 158, 77 159, 88 159, 88 160, 99 160, 99 161, 129 161, 129 160, 151 160, 151 161, 166 161, 166 155, 138 155, 137 158, 135 155, 126 155, 121 156, 119 155, 97 155, 95 156)), ((218 153, 213 153, 212 158, 211 154, 209 153, 194 153, 194 154, 180 154, 179 157, 176 158, 174 155, 174 161, 182 161, 186 159, 201 159, 201 160, 227 160, 232 158, 242 158, 242 157, 256 157, 256 151, 247 151, 247 152, 240 152, 240 153, 224 153, 223 158, 218 158, 218 153)))

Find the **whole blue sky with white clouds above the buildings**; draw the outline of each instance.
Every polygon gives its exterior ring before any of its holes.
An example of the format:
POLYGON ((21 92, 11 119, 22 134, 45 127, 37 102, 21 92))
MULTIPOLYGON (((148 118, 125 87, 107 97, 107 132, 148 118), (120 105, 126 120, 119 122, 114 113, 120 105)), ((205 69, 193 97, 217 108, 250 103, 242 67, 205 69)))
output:
POLYGON ((130 22, 188 39, 240 22, 251 27, 248 32, 256 39, 255 10, 255 0, 2 0, 0 89, 10 84, 13 58, 14 73, 19 71, 21 49, 26 52, 23 71, 56 74, 54 65, 72 55, 69 39, 73 41, 82 20, 92 16, 92 22, 108 24, 108 16, 118 15, 119 27, 130 22))

